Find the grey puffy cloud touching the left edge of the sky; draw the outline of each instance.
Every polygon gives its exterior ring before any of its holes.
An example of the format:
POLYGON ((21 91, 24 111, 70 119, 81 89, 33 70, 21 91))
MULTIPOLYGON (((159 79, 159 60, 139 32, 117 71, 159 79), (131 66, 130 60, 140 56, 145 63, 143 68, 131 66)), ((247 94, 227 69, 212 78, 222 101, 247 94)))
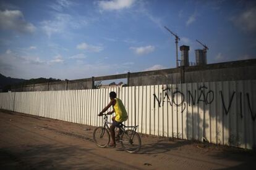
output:
POLYGON ((20 10, 0 10, 0 29, 19 33, 33 33, 36 30, 32 23, 24 19, 20 10))

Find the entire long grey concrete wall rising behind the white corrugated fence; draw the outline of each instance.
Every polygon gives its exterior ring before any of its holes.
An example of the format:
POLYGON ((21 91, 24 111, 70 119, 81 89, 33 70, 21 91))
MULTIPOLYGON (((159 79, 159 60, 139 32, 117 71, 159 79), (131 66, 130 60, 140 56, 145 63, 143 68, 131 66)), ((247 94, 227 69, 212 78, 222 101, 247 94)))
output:
POLYGON ((156 84, 179 84, 214 81, 256 79, 256 59, 214 63, 195 67, 179 67, 165 70, 143 71, 121 75, 100 76, 55 83, 35 84, 12 89, 12 91, 59 91, 93 89, 95 81, 127 78, 128 86, 156 84))

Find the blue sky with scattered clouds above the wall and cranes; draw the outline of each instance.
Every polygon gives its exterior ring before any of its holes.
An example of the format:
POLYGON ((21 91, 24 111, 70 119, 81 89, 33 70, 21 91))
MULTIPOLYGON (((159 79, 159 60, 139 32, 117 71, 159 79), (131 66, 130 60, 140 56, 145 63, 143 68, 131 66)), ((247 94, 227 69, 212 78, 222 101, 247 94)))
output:
MULTIPOLYGON (((179 46, 207 62, 256 58, 255 1, 3 1, 0 73, 82 79, 176 67, 179 46)), ((180 59, 179 52, 179 59, 180 59)))

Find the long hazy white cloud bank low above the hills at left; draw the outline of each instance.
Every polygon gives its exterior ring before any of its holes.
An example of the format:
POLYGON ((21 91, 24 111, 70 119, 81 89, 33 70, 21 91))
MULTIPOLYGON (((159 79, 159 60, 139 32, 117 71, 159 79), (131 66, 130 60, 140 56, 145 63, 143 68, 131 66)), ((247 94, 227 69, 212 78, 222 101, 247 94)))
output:
POLYGON ((0 73, 25 79, 39 77, 81 79, 112 75, 115 72, 113 64, 108 63, 84 63, 82 60, 67 65, 65 63, 61 55, 57 55, 53 60, 41 60, 39 57, 19 57, 14 52, 12 54, 4 52, 4 54, 0 54, 0 73), (62 63, 61 60, 63 60, 63 64, 59 65, 58 63, 62 63))

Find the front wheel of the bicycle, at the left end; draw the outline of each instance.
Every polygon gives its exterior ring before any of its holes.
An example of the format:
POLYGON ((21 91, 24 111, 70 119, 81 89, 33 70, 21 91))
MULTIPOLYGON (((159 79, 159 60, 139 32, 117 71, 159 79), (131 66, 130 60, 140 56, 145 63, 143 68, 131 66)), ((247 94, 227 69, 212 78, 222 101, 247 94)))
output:
POLYGON ((109 144, 109 139, 109 132, 105 127, 96 127, 93 132, 93 140, 98 147, 106 147, 109 144))

